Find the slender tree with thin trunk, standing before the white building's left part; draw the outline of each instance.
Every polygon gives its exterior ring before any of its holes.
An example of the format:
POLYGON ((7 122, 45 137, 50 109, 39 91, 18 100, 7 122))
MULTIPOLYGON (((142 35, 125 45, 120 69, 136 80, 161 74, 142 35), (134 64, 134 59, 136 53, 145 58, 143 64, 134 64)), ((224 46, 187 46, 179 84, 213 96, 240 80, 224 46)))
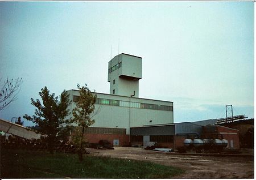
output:
POLYGON ((80 138, 80 148, 78 151, 79 160, 82 161, 84 130, 86 127, 89 127, 94 123, 94 119, 91 118, 91 114, 95 109, 94 104, 96 102, 97 96, 93 95, 93 93, 87 87, 87 84, 85 84, 85 86, 82 86, 82 87, 80 87, 80 85, 77 84, 77 88, 80 90, 80 97, 79 97, 79 100, 76 102, 76 108, 74 108, 72 112, 74 117, 72 122, 77 123, 77 125, 82 128, 81 138, 80 138))

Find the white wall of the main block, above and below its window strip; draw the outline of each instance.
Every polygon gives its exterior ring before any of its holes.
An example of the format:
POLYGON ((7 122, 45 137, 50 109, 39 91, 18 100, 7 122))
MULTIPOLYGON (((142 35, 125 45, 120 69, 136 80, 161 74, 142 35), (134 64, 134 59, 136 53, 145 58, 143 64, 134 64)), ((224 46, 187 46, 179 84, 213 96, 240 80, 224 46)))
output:
MULTIPOLYGON (((73 100, 73 95, 79 96, 79 91, 69 90, 69 98, 73 100)), ((168 105, 172 106, 173 102, 148 100, 143 98, 131 98, 126 96, 108 95, 103 93, 96 93, 98 98, 106 98, 110 100, 141 102, 146 104, 168 105)), ((75 108, 75 102, 69 106, 75 108)), ((95 105, 93 119, 95 123, 92 127, 110 127, 110 128, 126 128, 126 134, 130 134, 130 127, 144 126, 144 125, 160 125, 166 123, 174 123, 174 113, 164 110, 129 108, 122 106, 111 105, 95 105), (151 121, 151 122, 150 122, 151 121)), ((72 114, 69 115, 72 117, 72 114)), ((68 118, 69 118, 68 117, 68 118)))

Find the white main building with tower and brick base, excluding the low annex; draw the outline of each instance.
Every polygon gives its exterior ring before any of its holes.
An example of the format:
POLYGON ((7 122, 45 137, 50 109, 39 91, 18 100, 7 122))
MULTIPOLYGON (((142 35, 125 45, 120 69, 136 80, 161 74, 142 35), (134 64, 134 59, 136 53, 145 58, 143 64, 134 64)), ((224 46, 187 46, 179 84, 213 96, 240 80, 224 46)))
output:
MULTIPOLYGON (((122 53, 109 61, 110 94, 94 93, 95 123, 86 130, 88 141, 104 138, 114 145, 127 145, 131 127, 174 123, 173 102, 139 98, 139 79, 142 79, 141 57, 122 53)), ((80 94, 74 89, 68 93, 72 112, 80 94)))

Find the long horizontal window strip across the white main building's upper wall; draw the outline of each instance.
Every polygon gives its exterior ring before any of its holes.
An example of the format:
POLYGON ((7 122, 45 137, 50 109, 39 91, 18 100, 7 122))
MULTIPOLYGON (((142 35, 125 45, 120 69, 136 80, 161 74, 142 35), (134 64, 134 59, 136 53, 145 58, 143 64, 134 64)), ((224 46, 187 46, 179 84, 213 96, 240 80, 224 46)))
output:
POLYGON ((108 100, 108 99, 105 99, 105 98, 97 98, 96 99, 96 104, 131 107, 131 108, 141 108, 141 109, 155 109, 155 110, 173 111, 172 106, 146 104, 146 103, 140 103, 140 102, 108 100))

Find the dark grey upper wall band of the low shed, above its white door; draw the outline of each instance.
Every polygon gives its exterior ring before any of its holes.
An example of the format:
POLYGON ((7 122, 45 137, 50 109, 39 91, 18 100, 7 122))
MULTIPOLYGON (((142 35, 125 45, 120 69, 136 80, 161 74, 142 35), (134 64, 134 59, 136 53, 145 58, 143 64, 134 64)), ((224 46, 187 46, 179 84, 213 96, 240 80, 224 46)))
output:
POLYGON ((174 125, 131 127, 131 135, 174 135, 174 125))

